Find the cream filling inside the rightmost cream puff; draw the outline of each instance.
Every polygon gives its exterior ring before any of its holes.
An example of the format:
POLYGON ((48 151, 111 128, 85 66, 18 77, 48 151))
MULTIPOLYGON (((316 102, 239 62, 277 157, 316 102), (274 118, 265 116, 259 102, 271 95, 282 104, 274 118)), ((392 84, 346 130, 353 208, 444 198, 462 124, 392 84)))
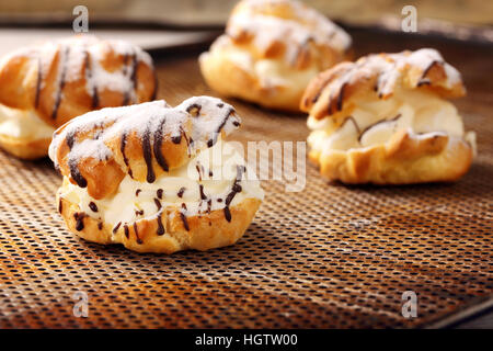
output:
POLYGON ((475 148, 472 132, 465 133, 462 118, 454 104, 419 90, 398 90, 388 100, 362 99, 351 115, 320 121, 310 116, 308 126, 313 131, 308 144, 318 150, 371 147, 387 143, 402 129, 415 137, 443 133, 451 138, 466 138, 475 148))

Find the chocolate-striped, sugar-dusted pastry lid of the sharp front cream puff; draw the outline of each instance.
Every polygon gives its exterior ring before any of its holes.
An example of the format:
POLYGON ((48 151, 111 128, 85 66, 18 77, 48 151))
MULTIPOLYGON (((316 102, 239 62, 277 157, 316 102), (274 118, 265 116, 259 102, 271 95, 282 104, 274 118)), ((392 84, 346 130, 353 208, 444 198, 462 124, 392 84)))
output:
POLYGON ((175 107, 160 100, 102 109, 56 131, 49 157, 71 183, 100 200, 111 196, 126 174, 154 182, 240 123, 231 105, 209 97, 191 98, 175 107))

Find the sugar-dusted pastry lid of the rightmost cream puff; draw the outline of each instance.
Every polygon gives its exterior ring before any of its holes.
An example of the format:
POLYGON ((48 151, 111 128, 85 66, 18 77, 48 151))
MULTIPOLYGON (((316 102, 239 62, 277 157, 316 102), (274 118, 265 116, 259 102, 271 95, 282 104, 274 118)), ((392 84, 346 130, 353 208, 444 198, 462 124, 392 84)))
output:
POLYGON ((310 117, 347 114, 356 99, 375 94, 387 100, 397 88, 431 91, 443 98, 466 94, 460 73, 432 48, 376 54, 342 63, 320 73, 308 86, 300 109, 310 117))

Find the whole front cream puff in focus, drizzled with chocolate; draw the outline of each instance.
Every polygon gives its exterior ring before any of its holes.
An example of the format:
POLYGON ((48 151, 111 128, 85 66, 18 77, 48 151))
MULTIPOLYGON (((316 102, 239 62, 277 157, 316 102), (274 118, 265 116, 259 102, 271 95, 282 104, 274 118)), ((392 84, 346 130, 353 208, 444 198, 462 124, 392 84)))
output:
POLYGON ((78 236, 139 252, 232 245, 264 196, 223 141, 239 125, 231 105, 209 97, 81 115, 49 147, 64 176, 58 211, 78 236))

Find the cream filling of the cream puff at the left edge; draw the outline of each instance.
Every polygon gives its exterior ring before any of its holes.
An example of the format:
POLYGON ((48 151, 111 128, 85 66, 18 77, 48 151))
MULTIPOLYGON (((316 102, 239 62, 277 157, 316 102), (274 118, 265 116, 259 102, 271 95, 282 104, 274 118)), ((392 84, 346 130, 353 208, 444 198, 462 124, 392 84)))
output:
POLYGON ((33 140, 51 138, 55 128, 33 110, 11 109, 0 104, 0 134, 33 140))

